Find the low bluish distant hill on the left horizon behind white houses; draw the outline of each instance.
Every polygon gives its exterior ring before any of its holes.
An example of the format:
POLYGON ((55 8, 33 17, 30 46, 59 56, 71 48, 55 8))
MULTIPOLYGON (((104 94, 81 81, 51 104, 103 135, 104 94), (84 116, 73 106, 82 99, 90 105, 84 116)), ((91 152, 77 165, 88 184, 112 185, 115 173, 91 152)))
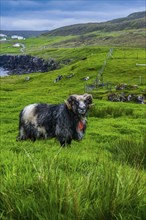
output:
POLYGON ((25 38, 28 37, 37 37, 40 36, 41 34, 45 33, 47 31, 9 31, 9 30, 0 30, 0 34, 6 34, 8 36, 12 35, 19 35, 23 36, 25 38))

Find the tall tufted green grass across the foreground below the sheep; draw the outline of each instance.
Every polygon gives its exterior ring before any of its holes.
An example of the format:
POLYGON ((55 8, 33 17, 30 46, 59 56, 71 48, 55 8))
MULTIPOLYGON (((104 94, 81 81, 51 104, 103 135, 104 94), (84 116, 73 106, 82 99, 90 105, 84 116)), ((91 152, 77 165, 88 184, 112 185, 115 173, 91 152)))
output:
POLYGON ((102 153, 92 160, 74 160, 75 152, 70 156, 67 151, 45 161, 37 161, 25 148, 21 159, 17 155, 17 167, 7 167, 3 179, 4 219, 145 218, 144 172, 102 153))

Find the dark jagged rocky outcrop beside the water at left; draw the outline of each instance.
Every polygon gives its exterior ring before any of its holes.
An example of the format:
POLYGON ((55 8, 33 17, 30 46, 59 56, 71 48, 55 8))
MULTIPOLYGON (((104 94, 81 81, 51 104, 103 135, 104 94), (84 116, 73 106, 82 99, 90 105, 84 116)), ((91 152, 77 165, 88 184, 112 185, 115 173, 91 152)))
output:
POLYGON ((30 55, 1 55, 0 67, 8 70, 9 75, 20 75, 55 70, 59 68, 59 63, 52 58, 44 60, 30 55))

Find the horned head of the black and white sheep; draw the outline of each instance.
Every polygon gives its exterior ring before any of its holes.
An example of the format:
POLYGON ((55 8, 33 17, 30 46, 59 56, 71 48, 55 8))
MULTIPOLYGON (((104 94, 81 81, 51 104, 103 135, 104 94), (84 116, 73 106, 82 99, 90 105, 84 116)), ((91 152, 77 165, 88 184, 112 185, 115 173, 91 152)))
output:
POLYGON ((85 116, 87 110, 92 105, 92 95, 71 95, 66 101, 68 109, 72 110, 76 115, 85 116))

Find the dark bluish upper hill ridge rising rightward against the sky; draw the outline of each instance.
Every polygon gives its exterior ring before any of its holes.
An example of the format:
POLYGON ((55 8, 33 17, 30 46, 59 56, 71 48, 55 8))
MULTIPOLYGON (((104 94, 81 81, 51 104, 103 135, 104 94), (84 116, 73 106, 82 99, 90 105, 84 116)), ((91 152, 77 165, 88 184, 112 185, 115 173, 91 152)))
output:
POLYGON ((125 18, 114 19, 101 23, 75 24, 57 28, 44 33, 43 35, 67 36, 82 35, 94 31, 121 31, 130 29, 140 29, 146 27, 146 11, 135 12, 125 18))

